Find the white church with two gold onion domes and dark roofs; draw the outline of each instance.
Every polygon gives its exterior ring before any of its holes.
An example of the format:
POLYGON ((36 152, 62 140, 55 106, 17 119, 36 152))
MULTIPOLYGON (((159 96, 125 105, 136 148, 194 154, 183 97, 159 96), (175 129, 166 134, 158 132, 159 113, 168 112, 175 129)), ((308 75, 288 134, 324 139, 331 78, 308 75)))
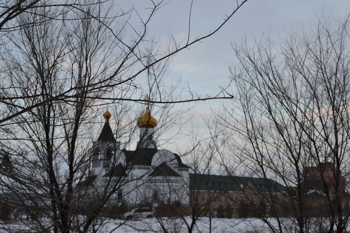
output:
POLYGON ((120 148, 108 109, 103 116, 103 129, 92 145, 91 175, 80 185, 94 190, 114 188, 114 204, 128 207, 146 203, 158 206, 160 202, 188 206, 190 167, 178 154, 158 150, 153 137, 157 121, 149 108, 138 119, 140 137, 134 151, 120 148))

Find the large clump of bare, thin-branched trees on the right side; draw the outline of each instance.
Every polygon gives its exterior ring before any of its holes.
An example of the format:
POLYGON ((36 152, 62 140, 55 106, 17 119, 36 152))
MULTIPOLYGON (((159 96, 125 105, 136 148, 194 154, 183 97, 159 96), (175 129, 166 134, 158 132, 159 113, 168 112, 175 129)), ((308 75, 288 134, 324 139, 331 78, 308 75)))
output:
POLYGON ((348 30, 349 15, 337 26, 321 16, 311 32, 292 31, 280 44, 263 36, 234 46, 238 97, 212 135, 229 174, 241 163, 240 172, 285 185, 261 196, 271 213, 257 217, 271 232, 348 226, 348 30))

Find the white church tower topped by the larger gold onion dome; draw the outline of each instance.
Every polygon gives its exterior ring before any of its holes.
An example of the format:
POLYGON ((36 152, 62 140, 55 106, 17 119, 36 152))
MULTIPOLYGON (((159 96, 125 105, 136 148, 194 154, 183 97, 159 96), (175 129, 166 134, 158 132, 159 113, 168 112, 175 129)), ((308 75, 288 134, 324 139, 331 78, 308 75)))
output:
MULTIPOLYGON (((149 100, 146 96, 145 100, 149 100)), ((138 148, 157 148, 157 144, 153 139, 154 128, 157 125, 157 120, 149 113, 147 105, 144 115, 142 115, 137 125, 140 128, 140 140, 137 143, 138 148)))

